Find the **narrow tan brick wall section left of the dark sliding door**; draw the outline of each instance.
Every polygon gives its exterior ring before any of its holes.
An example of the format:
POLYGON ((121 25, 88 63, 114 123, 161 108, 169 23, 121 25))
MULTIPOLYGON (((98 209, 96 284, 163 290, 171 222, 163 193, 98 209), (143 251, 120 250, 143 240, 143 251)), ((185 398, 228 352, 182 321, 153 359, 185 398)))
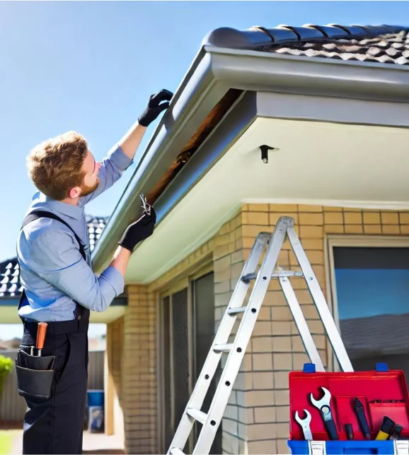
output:
POLYGON ((144 286, 129 285, 124 316, 121 401, 127 454, 156 454, 156 300, 144 286))

